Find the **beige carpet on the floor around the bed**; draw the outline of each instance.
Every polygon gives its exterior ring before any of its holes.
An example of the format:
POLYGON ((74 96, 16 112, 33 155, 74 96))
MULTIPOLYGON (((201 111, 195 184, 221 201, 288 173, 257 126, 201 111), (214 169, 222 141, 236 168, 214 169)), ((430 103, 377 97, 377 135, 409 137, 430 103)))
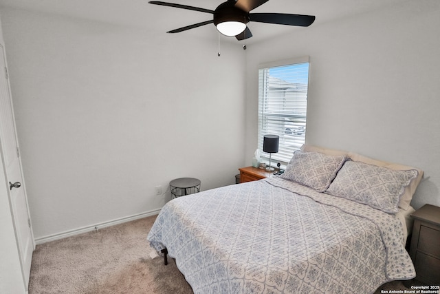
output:
MULTIPOLYGON (((151 216, 36 246, 29 293, 192 293, 172 258, 167 266, 162 258, 150 258, 146 235, 154 220, 151 216)), ((391 282, 380 289, 405 288, 391 282)))

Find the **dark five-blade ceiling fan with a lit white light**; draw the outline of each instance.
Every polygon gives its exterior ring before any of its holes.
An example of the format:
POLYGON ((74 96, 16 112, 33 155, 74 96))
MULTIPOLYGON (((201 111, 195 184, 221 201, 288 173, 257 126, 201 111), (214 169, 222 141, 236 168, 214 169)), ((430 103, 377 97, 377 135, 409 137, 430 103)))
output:
POLYGON ((169 33, 183 32, 193 28, 201 27, 209 23, 214 23, 217 30, 225 36, 235 36, 237 40, 248 39, 252 36, 246 23, 255 21, 259 23, 274 23, 278 25, 298 25, 308 27, 315 21, 312 15, 286 14, 286 13, 250 13, 251 10, 261 6, 269 0, 228 0, 221 3, 215 10, 186 6, 162 1, 149 1, 148 3, 195 10, 214 14, 210 21, 203 21, 183 28, 170 30, 169 33))

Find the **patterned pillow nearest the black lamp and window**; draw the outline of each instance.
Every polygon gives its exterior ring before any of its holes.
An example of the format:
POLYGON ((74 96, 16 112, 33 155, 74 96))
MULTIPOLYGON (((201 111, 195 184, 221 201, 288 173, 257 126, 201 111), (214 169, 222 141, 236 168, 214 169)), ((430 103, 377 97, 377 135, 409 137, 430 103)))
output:
POLYGON ((325 191, 347 156, 329 156, 318 152, 295 151, 281 178, 299 182, 318 192, 325 191))

